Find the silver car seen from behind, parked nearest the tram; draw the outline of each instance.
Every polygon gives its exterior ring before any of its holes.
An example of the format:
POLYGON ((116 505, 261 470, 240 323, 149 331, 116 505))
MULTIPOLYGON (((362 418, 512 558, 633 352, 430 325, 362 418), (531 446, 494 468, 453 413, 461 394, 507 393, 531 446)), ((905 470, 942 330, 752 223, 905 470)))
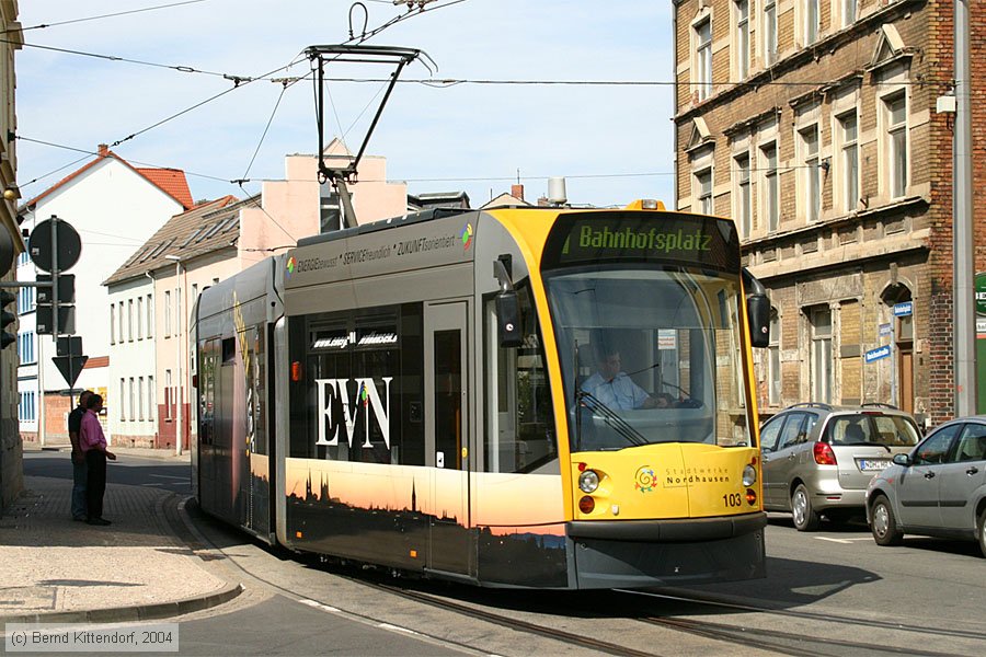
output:
POLYGON ((920 434, 908 413, 886 404, 789 406, 760 427, 764 507, 791 511, 799 531, 821 516, 862 516, 867 485, 920 434))

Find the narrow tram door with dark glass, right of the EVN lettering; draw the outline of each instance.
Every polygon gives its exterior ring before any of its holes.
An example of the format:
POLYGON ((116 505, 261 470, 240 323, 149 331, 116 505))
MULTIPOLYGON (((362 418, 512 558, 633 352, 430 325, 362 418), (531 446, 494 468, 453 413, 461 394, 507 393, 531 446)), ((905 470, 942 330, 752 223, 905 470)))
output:
POLYGON ((431 473, 428 568, 474 573, 469 519, 465 301, 425 306, 425 463, 431 473))

